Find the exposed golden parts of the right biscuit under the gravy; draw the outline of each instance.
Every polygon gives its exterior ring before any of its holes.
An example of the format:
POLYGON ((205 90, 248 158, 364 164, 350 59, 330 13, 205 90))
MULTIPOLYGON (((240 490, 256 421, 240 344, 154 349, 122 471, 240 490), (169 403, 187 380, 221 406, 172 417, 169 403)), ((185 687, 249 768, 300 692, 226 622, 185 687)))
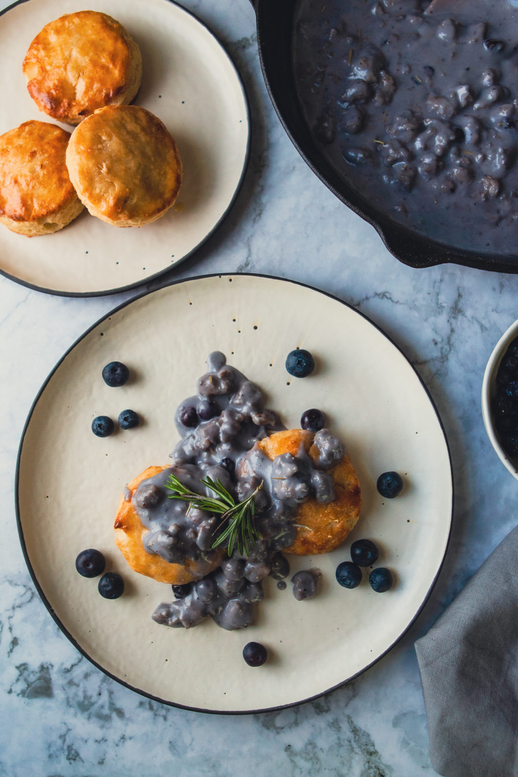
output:
MULTIPOLYGON (((268 458, 273 459, 283 453, 296 456, 302 447, 315 461, 318 448, 312 444, 314 437, 312 432, 290 429, 265 437, 259 442, 259 448, 268 458)), ((294 553, 296 556, 329 553, 342 545, 360 517, 360 483, 349 458, 344 456, 342 462, 331 467, 328 472, 335 483, 335 500, 319 504, 315 497, 311 497, 297 507, 297 538, 283 552, 294 553)))

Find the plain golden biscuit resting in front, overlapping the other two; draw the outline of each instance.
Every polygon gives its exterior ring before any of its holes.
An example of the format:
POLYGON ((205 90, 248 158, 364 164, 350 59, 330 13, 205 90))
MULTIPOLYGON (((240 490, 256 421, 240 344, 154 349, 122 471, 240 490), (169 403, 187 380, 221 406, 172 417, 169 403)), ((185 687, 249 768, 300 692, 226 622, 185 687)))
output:
POLYGON ((162 121, 144 108, 96 110, 71 134, 67 167, 92 216, 116 227, 140 227, 178 197, 182 162, 162 121))

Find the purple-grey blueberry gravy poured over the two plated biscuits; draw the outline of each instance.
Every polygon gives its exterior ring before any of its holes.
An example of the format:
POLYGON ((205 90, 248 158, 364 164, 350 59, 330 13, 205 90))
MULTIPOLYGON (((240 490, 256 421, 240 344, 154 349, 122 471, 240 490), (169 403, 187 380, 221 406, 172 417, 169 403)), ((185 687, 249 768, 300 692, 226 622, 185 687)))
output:
POLYGON ((171 454, 173 465, 142 481, 132 502, 148 529, 144 549, 169 563, 189 559, 198 579, 183 587, 182 598, 159 605, 152 617, 158 623, 189 629, 210 615, 224 629, 240 629, 252 622, 252 605, 263 598, 262 580, 283 580, 290 573, 281 551, 297 534, 297 505, 309 497, 320 503, 335 498, 332 476, 325 470, 342 460, 345 448, 322 429, 313 438, 318 452, 315 462, 303 446, 296 456, 284 453, 271 461, 257 443, 283 426, 276 413, 263 408, 257 386, 226 364, 219 352, 209 355, 196 395, 182 402, 175 421, 181 439, 171 454), (207 573, 217 559, 212 545, 221 516, 168 499, 171 492, 165 484, 170 474, 196 493, 211 497, 214 494, 200 479, 219 479, 236 501, 245 500, 262 483, 256 496, 261 538, 249 556, 235 549, 207 573))

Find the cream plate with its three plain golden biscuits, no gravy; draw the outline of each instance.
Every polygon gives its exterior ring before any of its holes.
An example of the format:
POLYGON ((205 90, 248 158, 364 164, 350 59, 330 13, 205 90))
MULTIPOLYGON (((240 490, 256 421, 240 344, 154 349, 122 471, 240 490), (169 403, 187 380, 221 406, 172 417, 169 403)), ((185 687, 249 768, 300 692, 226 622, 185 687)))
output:
POLYGON ((182 6, 15 3, 0 13, 0 67, 5 276, 51 294, 122 291, 184 260, 228 213, 248 102, 182 6))

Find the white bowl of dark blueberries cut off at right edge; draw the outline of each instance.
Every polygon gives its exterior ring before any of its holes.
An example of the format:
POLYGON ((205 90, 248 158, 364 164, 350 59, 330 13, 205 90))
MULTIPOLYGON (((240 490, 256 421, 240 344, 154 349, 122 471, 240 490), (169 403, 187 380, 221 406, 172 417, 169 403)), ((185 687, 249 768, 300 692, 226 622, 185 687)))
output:
POLYGON ((518 480, 518 321, 496 343, 482 382, 482 418, 503 465, 518 480))

